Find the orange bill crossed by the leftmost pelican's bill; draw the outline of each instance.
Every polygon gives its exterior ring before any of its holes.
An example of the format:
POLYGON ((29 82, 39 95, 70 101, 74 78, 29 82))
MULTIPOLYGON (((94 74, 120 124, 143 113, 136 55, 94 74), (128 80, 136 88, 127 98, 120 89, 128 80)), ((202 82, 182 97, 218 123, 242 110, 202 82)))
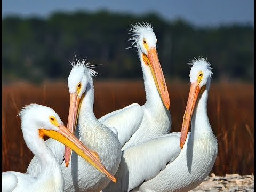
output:
MULTIPOLYGON (((75 134, 75 130, 76 130, 79 103, 80 103, 80 98, 78 97, 77 93, 71 93, 67 127, 68 127, 68 130, 73 134, 75 134)), ((66 167, 68 167, 70 158, 71 158, 71 149, 65 146, 66 167)))

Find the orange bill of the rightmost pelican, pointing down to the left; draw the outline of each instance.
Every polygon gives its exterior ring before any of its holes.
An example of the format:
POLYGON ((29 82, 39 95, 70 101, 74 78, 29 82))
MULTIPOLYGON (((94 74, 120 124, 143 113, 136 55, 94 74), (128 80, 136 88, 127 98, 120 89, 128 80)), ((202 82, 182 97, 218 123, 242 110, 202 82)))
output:
MULTIPOLYGON (((186 142, 189 126, 191 123, 191 118, 194 113, 195 105, 199 96, 201 88, 198 86, 198 81, 195 83, 191 83, 190 85, 190 91, 188 95, 188 102, 185 110, 185 114, 183 116, 183 123, 181 127, 181 134, 180 134, 180 148, 183 149, 183 146, 186 142)), ((202 87, 202 89, 205 89, 205 86, 202 87)))

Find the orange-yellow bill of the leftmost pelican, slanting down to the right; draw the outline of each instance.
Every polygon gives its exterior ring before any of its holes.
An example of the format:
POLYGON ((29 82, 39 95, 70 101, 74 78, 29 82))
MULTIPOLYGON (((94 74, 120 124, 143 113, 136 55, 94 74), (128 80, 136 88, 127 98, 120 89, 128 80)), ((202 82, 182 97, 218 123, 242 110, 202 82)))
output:
POLYGON ((39 129, 39 133, 41 136, 47 135, 48 137, 63 143, 65 146, 68 146, 79 156, 83 157, 88 163, 105 174, 109 179, 116 182, 116 178, 114 178, 114 176, 111 175, 106 167, 101 163, 99 155, 85 147, 85 145, 79 141, 75 135, 70 133, 64 125, 59 125, 58 131, 39 129))

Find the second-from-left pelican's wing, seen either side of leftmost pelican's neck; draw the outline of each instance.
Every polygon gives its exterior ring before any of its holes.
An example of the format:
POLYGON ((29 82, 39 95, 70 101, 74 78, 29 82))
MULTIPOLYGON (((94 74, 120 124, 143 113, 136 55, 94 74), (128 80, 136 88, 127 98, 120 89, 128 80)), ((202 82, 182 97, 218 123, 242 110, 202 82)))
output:
MULTIPOLYGON (((58 163, 61 164, 64 158, 65 145, 51 138, 46 140, 45 143, 52 150, 52 153, 54 154, 58 163)), ((32 175, 34 177, 39 177, 40 173, 41 173, 41 163, 39 163, 36 156, 34 156, 28 165, 27 174, 32 175)))

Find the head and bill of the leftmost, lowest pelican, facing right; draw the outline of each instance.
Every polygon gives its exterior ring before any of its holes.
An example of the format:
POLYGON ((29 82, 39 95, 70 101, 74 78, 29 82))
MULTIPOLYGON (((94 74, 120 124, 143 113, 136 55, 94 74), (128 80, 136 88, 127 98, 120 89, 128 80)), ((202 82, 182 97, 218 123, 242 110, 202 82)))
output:
POLYGON ((46 135, 70 147, 96 169, 106 174, 111 180, 116 181, 113 175, 103 166, 98 154, 89 150, 81 141, 71 134, 53 109, 42 105, 31 104, 23 108, 19 116, 21 117, 24 139, 29 148, 33 148, 33 143, 30 143, 29 140, 35 139, 36 132, 39 138, 42 139, 46 135))

